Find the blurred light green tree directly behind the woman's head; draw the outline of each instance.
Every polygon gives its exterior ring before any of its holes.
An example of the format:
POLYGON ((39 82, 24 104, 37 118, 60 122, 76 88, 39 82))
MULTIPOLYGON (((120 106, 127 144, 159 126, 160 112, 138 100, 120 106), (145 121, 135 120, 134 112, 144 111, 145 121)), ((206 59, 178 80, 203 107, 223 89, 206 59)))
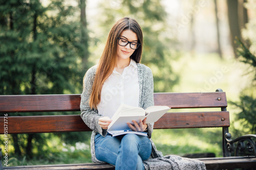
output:
POLYGON ((170 38, 171 32, 167 30, 166 12, 161 1, 102 1, 99 6, 101 13, 97 20, 104 30, 98 36, 105 40, 113 24, 122 17, 136 19, 143 31, 141 62, 153 71, 155 92, 172 91, 178 82, 171 65, 178 56, 174 47, 177 42, 170 38))

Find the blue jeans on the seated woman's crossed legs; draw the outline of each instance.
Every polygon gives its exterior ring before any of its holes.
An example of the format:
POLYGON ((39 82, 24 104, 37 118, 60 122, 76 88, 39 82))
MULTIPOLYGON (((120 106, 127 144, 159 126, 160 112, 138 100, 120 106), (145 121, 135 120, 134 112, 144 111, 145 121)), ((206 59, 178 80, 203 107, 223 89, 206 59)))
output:
POLYGON ((94 142, 96 158, 115 165, 115 169, 144 169, 142 161, 152 151, 150 139, 136 134, 112 137, 108 133, 103 137, 97 133, 94 142))

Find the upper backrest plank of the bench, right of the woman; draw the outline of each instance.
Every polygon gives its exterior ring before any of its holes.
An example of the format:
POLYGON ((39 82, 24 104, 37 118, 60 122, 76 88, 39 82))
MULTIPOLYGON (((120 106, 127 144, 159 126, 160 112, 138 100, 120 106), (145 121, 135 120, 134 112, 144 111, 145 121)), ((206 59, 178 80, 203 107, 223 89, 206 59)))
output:
POLYGON ((155 105, 166 105, 173 109, 227 107, 225 92, 154 93, 154 101, 155 105))

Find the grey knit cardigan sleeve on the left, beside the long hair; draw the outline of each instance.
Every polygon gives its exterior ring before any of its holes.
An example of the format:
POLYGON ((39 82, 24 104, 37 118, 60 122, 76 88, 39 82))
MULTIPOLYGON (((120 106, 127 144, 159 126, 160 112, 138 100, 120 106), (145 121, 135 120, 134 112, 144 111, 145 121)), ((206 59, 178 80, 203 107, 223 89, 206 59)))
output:
POLYGON ((99 118, 102 117, 98 114, 97 109, 91 109, 89 106, 89 98, 91 95, 92 85, 95 78, 96 66, 91 67, 84 77, 84 85, 83 91, 81 94, 81 102, 80 102, 80 110, 81 110, 81 118, 83 122, 95 132, 100 133, 102 136, 106 135, 106 130, 102 129, 98 122, 99 118))

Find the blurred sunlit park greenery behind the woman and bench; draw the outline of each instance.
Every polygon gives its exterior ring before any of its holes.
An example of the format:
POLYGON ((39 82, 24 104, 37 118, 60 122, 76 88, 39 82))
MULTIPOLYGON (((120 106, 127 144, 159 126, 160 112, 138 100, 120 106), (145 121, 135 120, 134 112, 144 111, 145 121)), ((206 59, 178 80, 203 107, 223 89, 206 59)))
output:
MULTIPOLYGON (((142 27, 142 63, 153 71, 155 92, 221 88, 232 137, 255 134, 255 11, 252 0, 1 0, 0 95, 81 93, 111 27, 129 16, 142 27)), ((221 134, 220 128, 155 130, 152 138, 164 155, 219 157, 221 134)), ((8 165, 91 162, 90 135, 9 135, 8 165)))

